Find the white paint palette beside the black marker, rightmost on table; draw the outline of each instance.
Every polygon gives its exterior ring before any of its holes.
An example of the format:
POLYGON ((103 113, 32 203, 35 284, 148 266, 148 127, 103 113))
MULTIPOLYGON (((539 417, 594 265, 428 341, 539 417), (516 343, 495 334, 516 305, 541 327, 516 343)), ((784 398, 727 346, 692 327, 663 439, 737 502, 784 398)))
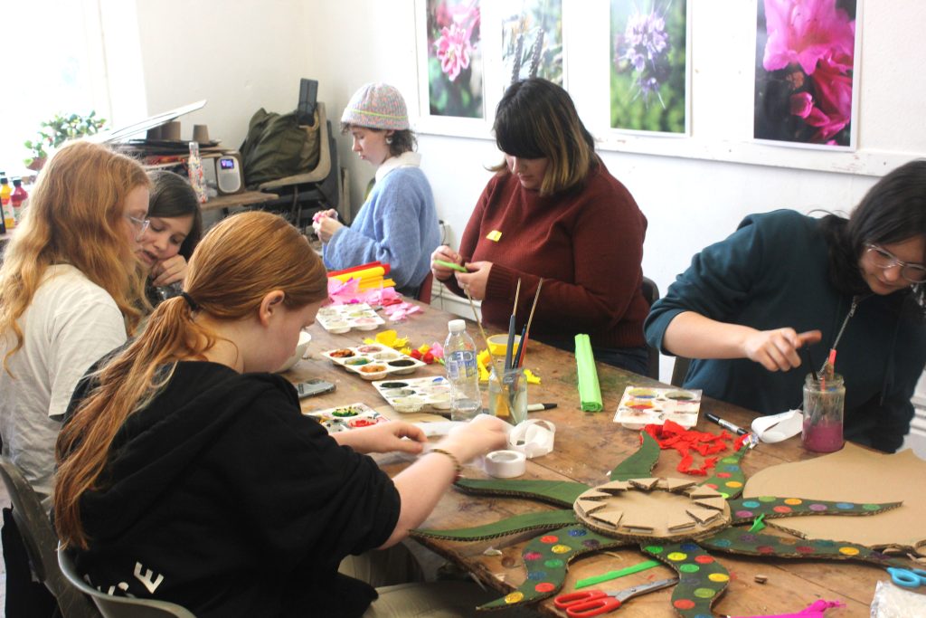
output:
POLYGON ((614 422, 622 423, 628 429, 641 429, 644 425, 661 425, 671 421, 691 429, 697 423, 700 410, 700 389, 631 385, 620 397, 614 422))

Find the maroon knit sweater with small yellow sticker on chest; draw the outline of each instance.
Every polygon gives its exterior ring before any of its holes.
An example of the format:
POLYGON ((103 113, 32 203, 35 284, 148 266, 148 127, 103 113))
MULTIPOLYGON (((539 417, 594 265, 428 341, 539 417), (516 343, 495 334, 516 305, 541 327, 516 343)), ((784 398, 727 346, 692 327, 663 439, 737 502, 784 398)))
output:
MULTIPOLYGON (((586 333, 595 347, 645 345, 649 312, 640 286, 646 218, 627 188, 598 161, 581 189, 541 197, 503 172, 482 191, 459 253, 493 263, 482 317, 507 330, 521 279, 518 333, 527 322, 540 277, 544 287, 531 338, 565 347, 586 333), (500 232, 497 241, 487 235, 500 232)), ((457 295, 455 278, 444 282, 457 295)))

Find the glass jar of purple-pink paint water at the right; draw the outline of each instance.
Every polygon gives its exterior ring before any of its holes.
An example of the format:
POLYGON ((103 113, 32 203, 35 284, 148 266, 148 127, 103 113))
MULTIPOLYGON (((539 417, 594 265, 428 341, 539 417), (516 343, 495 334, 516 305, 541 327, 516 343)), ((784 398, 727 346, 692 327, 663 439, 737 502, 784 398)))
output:
POLYGON ((832 453, 843 448, 843 412, 845 385, 843 376, 822 374, 816 379, 807 374, 804 381, 804 427, 801 442, 816 453, 832 453))

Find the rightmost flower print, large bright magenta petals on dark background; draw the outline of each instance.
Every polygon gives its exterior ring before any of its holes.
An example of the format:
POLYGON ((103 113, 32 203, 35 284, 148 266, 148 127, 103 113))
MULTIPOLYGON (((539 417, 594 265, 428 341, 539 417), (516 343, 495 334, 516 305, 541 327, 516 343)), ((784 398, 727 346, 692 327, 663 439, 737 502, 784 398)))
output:
POLYGON ((854 147, 856 0, 758 0, 756 139, 854 147))

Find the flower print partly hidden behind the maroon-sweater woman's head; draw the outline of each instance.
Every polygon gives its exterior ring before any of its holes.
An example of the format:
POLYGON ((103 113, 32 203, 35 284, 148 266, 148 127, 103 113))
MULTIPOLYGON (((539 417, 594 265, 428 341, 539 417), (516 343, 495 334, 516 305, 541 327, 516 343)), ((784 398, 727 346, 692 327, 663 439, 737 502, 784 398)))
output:
POLYGON ((529 77, 542 77, 563 85, 562 0, 501 0, 500 4, 505 16, 502 19, 505 88, 529 77))

